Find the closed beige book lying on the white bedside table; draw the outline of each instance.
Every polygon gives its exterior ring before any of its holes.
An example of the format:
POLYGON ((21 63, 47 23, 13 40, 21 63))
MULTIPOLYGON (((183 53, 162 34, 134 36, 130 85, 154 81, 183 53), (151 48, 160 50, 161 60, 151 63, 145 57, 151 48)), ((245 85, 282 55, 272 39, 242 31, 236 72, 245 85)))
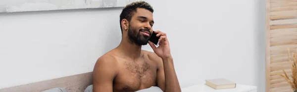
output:
POLYGON ((232 89, 236 88, 236 83, 224 78, 205 80, 205 84, 213 89, 232 89))

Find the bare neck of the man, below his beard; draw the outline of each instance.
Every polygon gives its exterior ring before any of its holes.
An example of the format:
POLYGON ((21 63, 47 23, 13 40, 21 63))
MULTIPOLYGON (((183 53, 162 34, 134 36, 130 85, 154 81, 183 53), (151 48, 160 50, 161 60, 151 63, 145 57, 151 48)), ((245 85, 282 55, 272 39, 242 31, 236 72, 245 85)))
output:
POLYGON ((120 45, 117 46, 119 50, 121 50, 121 53, 124 54, 125 57, 131 58, 131 59, 138 59, 141 57, 141 47, 136 44, 132 44, 128 40, 122 40, 120 45))

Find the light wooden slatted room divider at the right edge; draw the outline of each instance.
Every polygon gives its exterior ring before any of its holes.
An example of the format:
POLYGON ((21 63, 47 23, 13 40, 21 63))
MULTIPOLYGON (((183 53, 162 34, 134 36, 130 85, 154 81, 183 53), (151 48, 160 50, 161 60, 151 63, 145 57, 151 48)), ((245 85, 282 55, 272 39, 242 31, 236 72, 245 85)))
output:
POLYGON ((293 92, 278 75, 292 75, 288 48, 297 51, 297 0, 266 0, 266 92, 293 92))

